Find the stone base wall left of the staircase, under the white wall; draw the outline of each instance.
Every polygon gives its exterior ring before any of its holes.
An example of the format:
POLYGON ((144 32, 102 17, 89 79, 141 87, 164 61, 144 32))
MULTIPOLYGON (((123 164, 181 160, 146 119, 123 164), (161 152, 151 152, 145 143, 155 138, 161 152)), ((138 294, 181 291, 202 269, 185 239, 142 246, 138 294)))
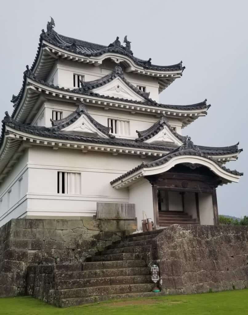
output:
POLYGON ((30 265, 83 262, 136 230, 135 220, 13 219, 0 228, 0 297, 27 294, 30 265))

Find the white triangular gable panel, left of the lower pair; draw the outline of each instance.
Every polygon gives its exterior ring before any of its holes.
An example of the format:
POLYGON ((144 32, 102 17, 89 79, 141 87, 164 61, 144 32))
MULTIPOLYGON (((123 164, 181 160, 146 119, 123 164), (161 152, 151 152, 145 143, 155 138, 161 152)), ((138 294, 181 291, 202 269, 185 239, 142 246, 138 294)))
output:
POLYGON ((103 138, 108 138, 108 136, 102 133, 99 129, 97 129, 95 125, 91 123, 89 118, 84 114, 70 126, 62 129, 62 131, 77 131, 82 133, 99 135, 103 138))

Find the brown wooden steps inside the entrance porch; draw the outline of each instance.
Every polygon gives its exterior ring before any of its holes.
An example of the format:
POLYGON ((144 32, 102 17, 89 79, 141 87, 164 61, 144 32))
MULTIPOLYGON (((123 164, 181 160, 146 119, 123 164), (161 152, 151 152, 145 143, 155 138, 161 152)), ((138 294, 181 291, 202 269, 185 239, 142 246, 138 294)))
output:
POLYGON ((159 226, 165 227, 172 224, 199 224, 197 219, 192 219, 192 215, 188 215, 182 211, 159 212, 159 226))

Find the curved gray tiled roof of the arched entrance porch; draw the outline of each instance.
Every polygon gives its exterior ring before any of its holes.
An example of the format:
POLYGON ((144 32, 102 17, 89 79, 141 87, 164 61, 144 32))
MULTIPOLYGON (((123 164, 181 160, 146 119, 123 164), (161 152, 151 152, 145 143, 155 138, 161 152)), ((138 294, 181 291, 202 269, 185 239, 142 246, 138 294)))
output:
POLYGON ((240 175, 242 176, 243 173, 239 173, 237 170, 230 170, 227 169, 225 166, 222 166, 221 163, 216 162, 212 157, 208 157, 208 155, 204 154, 198 146, 194 146, 193 142, 190 140, 190 137, 188 138, 188 140, 185 142, 185 144, 183 144, 182 146, 176 148, 174 151, 169 152, 168 154, 166 154, 163 157, 160 157, 159 159, 153 161, 153 162, 149 162, 149 163, 141 163, 140 165, 136 166, 135 168, 131 169, 130 171, 126 172, 125 174, 117 177, 116 179, 112 180, 110 182, 110 184, 114 184, 116 182, 118 182, 119 180, 124 179, 125 177, 135 173, 136 171, 138 171, 139 169, 142 168, 148 168, 148 167, 155 167, 155 166, 159 166, 162 164, 165 164, 167 162, 170 161, 170 159, 172 159, 173 157, 176 156, 182 156, 182 155, 195 155, 195 156, 201 156, 201 157, 205 157, 211 161, 213 161, 214 163, 216 163, 220 168, 222 168, 223 170, 227 171, 228 173, 234 174, 234 175, 240 175))

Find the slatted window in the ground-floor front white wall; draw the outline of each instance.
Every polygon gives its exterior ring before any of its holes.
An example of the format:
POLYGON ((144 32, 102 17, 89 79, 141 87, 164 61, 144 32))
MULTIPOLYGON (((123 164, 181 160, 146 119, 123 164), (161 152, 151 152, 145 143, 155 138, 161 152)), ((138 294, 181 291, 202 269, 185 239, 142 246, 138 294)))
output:
POLYGON ((80 195, 81 174, 58 172, 57 192, 58 194, 80 195))

